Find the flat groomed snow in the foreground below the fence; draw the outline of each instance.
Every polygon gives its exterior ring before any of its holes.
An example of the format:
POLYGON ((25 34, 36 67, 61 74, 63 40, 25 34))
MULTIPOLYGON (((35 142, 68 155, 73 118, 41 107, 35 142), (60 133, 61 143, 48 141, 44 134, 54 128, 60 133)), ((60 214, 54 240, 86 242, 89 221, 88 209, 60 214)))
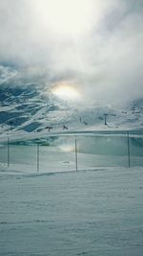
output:
POLYGON ((142 256, 143 168, 0 166, 0 255, 142 256))

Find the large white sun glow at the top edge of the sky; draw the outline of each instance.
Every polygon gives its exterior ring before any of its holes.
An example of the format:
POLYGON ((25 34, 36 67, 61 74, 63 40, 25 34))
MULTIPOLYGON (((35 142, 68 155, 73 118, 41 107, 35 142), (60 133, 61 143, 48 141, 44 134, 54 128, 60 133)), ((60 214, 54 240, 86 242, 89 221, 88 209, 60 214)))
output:
POLYGON ((36 18, 53 32, 78 35, 88 29, 92 0, 36 0, 36 18))

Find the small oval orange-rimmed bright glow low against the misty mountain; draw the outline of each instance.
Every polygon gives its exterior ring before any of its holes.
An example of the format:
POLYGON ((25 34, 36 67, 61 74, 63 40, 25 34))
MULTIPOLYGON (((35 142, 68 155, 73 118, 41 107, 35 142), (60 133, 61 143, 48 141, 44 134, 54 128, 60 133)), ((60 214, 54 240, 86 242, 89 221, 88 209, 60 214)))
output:
POLYGON ((58 98, 65 101, 78 101, 81 94, 75 85, 67 82, 60 82, 52 86, 51 92, 58 98))

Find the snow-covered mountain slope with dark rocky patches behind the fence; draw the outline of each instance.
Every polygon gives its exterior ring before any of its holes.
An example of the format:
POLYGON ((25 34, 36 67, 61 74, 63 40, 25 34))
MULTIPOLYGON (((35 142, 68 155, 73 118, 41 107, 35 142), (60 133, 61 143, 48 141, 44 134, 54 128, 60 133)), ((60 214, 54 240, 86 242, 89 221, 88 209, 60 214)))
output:
POLYGON ((0 84, 0 133, 143 128, 143 98, 126 107, 72 105, 45 83, 15 75, 0 84), (52 129, 51 129, 52 128, 52 129))

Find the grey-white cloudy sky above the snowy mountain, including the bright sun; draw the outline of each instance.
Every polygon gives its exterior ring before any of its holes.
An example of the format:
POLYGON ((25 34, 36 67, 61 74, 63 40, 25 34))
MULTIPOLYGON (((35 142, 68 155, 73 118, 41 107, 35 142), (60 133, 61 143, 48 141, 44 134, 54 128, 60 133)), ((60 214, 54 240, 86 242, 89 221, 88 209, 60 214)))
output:
POLYGON ((72 81, 89 103, 143 97, 142 0, 0 1, 0 38, 5 79, 72 81))

